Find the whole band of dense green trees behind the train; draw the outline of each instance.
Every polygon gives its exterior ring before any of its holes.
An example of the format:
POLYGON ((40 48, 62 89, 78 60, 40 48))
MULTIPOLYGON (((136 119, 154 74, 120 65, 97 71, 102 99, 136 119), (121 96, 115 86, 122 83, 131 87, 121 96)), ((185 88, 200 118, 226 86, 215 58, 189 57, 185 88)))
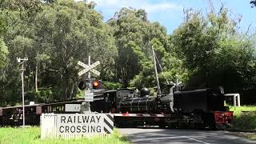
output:
POLYGON ((225 8, 204 16, 186 10, 173 34, 150 22, 145 10, 122 8, 107 22, 94 2, 3 0, 0 3, 0 102, 21 102, 25 64, 26 102, 81 96, 78 61, 100 61, 102 86, 155 90, 152 46, 162 87, 178 78, 186 89, 224 86, 229 92, 256 84, 255 38, 238 31, 225 8))

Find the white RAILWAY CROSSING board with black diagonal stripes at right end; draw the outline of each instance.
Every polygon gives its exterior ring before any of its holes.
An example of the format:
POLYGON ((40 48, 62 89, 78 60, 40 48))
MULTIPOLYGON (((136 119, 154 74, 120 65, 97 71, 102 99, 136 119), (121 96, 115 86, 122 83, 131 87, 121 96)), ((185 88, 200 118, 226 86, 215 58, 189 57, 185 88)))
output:
POLYGON ((41 138, 82 138, 111 134, 112 114, 42 114, 41 138))

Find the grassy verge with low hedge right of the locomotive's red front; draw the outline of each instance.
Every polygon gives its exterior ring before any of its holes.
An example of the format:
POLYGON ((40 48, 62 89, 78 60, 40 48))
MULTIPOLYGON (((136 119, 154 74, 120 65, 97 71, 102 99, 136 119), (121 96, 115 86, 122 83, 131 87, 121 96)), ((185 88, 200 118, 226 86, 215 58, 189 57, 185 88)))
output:
MULTIPOLYGON (((230 106, 234 111, 234 129, 239 130, 256 130, 256 106, 230 106), (242 112, 246 111, 246 112, 242 112)), ((256 133, 239 133, 238 135, 256 140, 256 133)))

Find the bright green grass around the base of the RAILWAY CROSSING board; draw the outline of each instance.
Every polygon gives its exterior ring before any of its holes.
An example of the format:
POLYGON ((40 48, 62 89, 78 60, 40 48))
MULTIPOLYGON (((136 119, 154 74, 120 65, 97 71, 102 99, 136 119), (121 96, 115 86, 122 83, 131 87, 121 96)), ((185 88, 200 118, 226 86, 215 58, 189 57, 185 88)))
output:
POLYGON ((0 143, 1 144, 125 144, 130 143, 128 138, 118 133, 118 130, 114 130, 114 134, 108 137, 97 137, 97 138, 79 138, 79 139, 40 139, 40 128, 29 127, 22 129, 20 127, 3 127, 0 128, 0 143))

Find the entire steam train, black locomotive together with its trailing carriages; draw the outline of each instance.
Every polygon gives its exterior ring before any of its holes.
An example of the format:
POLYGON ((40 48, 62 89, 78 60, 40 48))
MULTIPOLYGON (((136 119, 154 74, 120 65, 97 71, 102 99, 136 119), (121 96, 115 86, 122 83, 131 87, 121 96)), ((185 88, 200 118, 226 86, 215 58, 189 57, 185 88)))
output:
MULTIPOLYGON (((82 102, 83 98, 77 98, 25 106, 26 124, 38 125, 42 113, 79 113, 82 102)), ((130 89, 94 90, 90 110, 114 114, 115 126, 224 129, 233 122, 233 112, 224 106, 222 89, 180 91, 172 86, 169 94, 157 97, 150 96, 146 88, 140 93, 130 89)), ((0 125, 21 124, 22 106, 0 108, 0 125)))

